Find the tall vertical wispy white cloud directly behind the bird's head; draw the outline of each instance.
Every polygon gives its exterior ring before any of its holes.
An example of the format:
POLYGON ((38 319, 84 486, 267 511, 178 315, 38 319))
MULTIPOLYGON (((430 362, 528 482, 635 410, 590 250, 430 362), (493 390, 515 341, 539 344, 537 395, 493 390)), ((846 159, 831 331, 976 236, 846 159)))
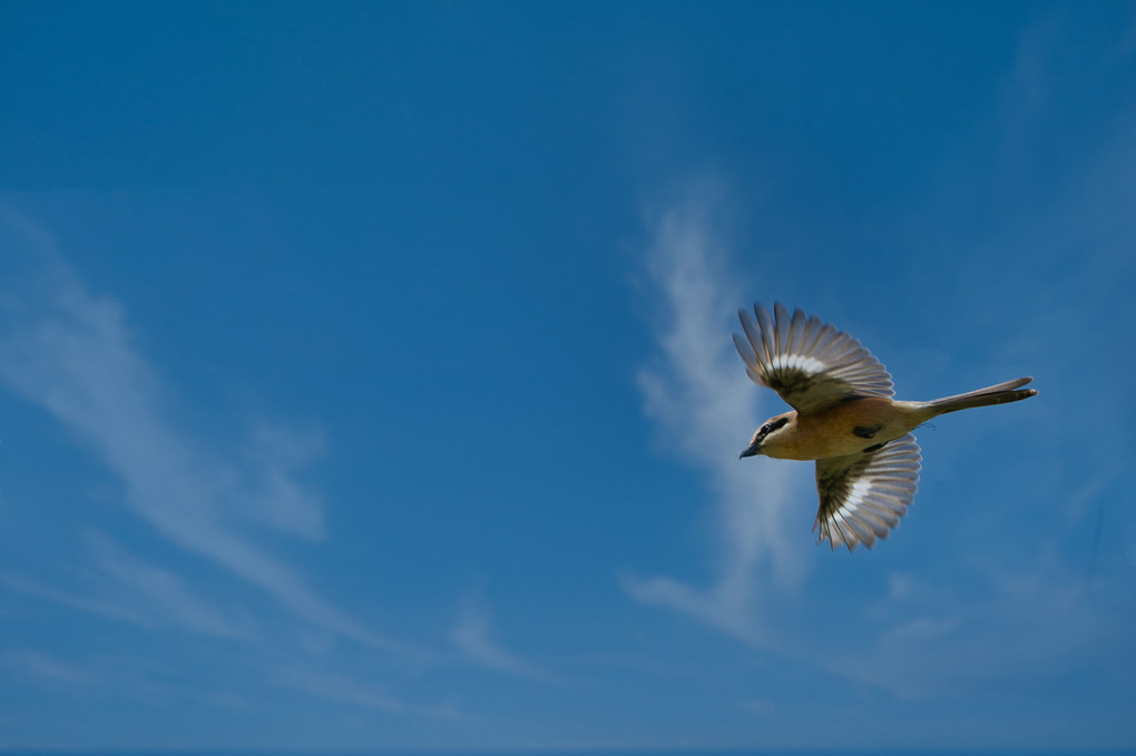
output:
POLYGON ((648 417, 662 445, 701 470, 716 496, 719 571, 708 588, 669 577, 626 577, 637 600, 693 614, 750 641, 763 636, 760 597, 796 583, 805 571, 800 535, 786 532, 807 470, 737 459, 776 397, 745 375, 730 333, 752 293, 715 232, 720 187, 695 183, 651 219, 646 270, 655 304, 659 354, 640 372, 648 417))

